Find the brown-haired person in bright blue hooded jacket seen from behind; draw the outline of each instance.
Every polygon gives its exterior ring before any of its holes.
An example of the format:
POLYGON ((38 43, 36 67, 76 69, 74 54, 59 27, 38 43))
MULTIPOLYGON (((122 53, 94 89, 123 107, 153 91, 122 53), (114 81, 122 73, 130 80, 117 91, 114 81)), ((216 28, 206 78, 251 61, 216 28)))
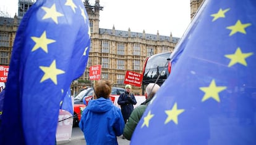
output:
POLYGON ((109 100, 111 83, 99 80, 94 89, 96 99, 88 102, 79 122, 86 144, 118 144, 116 136, 124 131, 124 119, 121 109, 109 100))

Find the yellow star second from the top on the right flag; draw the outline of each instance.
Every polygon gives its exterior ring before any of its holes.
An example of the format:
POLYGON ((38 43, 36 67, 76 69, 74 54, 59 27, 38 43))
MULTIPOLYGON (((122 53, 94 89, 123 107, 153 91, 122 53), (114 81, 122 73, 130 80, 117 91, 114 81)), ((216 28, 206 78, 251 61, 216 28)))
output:
POLYGON ((237 32, 246 34, 245 28, 247 28, 250 25, 252 25, 252 24, 251 23, 242 24, 240 20, 237 20, 235 25, 227 27, 227 29, 231 29, 231 33, 229 33, 229 36, 232 36, 233 34, 236 34, 237 32))

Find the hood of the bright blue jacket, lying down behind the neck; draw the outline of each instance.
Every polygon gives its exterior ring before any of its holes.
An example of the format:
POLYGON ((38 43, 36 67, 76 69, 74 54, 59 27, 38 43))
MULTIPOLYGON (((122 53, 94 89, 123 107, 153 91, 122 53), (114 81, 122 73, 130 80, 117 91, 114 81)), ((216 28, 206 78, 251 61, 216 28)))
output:
POLYGON ((90 100, 87 109, 92 112, 107 112, 113 108, 113 105, 111 100, 101 97, 96 100, 90 100))

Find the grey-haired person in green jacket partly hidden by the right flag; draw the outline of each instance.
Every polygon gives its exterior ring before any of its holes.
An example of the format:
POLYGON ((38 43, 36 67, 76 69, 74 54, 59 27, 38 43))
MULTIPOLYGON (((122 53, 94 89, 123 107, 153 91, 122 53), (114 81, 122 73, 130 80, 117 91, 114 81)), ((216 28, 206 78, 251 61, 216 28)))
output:
POLYGON ((160 86, 158 84, 150 83, 147 85, 145 90, 145 96, 147 100, 140 104, 140 106, 137 106, 137 108, 134 108, 134 111, 132 111, 132 114, 130 114, 129 119, 124 126, 123 135, 126 139, 130 140, 132 138, 132 134, 134 133, 137 124, 139 123, 148 104, 152 100, 153 96, 155 96, 155 93, 158 91, 159 88, 160 86))

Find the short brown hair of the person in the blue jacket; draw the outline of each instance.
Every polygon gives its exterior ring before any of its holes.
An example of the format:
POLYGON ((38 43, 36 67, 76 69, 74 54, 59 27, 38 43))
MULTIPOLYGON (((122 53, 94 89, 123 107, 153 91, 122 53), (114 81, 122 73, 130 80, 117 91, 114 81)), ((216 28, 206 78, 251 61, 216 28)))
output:
POLYGON ((94 90, 95 95, 97 98, 103 97, 103 98, 109 98, 109 95, 111 93, 111 83, 109 80, 98 80, 94 84, 94 90))

